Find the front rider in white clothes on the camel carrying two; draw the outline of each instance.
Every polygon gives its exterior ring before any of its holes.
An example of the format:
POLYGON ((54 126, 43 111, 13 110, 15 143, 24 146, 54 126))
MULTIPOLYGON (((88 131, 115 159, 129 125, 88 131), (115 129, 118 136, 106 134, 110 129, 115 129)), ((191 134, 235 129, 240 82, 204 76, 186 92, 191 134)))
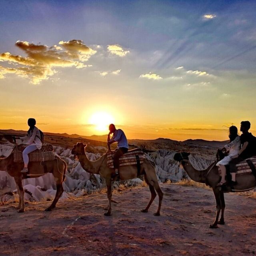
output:
MULTIPOLYGON (((226 167, 229 162, 238 156, 238 152, 241 148, 240 136, 238 135, 238 130, 236 126, 232 125, 229 128, 229 136, 230 142, 222 148, 222 151, 229 150, 228 156, 225 156, 222 160, 220 160, 216 166, 220 167, 221 171, 221 181, 217 184, 217 186, 222 186, 226 183, 226 167)), ((232 177, 233 180, 233 177, 232 177)))

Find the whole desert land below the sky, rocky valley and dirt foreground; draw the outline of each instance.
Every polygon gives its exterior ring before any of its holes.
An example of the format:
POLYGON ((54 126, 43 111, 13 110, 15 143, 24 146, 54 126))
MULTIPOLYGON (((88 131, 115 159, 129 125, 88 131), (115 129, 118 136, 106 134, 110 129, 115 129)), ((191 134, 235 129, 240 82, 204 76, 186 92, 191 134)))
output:
MULTIPOLYGON (((56 209, 45 212, 56 191, 51 177, 24 180, 26 212, 17 213, 12 178, 0 172, 0 255, 255 255, 255 192, 225 194, 225 225, 210 229, 215 218, 212 190, 188 181, 173 160, 175 152, 190 151, 191 162, 203 169, 214 160, 216 146, 224 142, 129 141, 131 148, 144 148, 156 164, 164 192, 161 216, 153 215, 158 197, 148 213, 140 211, 150 191, 138 178, 114 182, 112 216, 104 216, 108 203, 104 181, 98 176, 92 179, 78 162, 72 167, 70 149, 78 141, 87 143, 86 154, 96 160, 106 152, 106 142, 54 134, 45 140, 68 163, 64 195, 56 209)), ((2 156, 11 149, 3 139, 2 156)))

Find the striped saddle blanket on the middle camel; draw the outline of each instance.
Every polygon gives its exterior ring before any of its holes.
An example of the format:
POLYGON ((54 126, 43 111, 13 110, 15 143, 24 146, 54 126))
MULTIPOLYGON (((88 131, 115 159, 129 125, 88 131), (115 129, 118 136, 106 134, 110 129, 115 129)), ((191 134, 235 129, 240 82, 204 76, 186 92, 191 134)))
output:
MULTIPOLYGON (((114 153, 114 151, 107 152, 107 166, 109 168, 114 168, 114 153)), ((119 166, 137 164, 136 156, 139 158, 140 164, 142 164, 144 162, 144 152, 141 149, 138 149, 136 151, 132 150, 132 152, 128 151, 127 153, 123 154, 119 158, 119 166)))

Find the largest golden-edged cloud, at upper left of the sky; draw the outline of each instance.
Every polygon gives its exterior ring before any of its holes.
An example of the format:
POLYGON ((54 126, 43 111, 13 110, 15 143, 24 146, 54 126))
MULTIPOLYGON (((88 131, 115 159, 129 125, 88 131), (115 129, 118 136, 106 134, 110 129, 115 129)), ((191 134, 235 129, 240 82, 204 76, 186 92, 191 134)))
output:
POLYGON ((16 46, 27 56, 12 55, 10 52, 1 53, 0 62, 6 62, 12 67, 0 66, 0 79, 5 78, 6 74, 16 74, 28 78, 32 84, 39 84, 57 73, 54 67, 92 66, 83 62, 88 61, 97 51, 86 46, 82 40, 60 41, 59 44, 62 47, 17 41, 16 46))

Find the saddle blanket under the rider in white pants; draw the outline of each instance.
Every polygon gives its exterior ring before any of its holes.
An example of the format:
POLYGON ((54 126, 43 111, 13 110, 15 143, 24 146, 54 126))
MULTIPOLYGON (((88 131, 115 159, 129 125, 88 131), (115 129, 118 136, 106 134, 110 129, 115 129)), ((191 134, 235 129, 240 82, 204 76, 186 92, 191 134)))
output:
MULTIPOLYGON (((13 157, 14 162, 16 163, 22 163, 23 157, 22 157, 22 151, 24 148, 26 148, 27 145, 17 145, 13 149, 13 157)), ((55 155, 53 152, 52 144, 44 144, 42 145, 41 149, 35 150, 28 154, 29 162, 44 162, 44 161, 51 161, 54 160, 55 155)))

